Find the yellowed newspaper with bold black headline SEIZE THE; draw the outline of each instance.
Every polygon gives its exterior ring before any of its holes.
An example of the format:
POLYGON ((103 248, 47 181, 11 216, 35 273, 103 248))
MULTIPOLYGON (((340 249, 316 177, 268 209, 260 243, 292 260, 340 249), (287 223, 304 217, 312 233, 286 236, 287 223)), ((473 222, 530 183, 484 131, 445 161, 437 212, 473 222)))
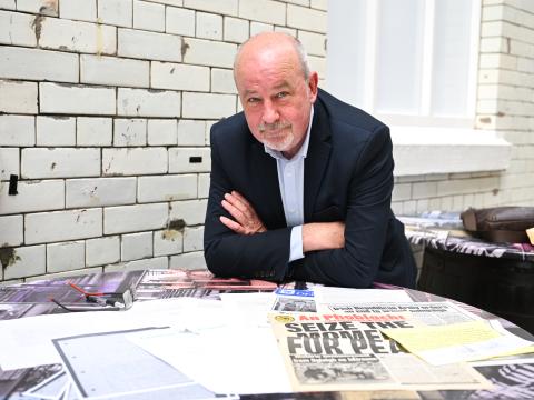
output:
POLYGON ((433 367, 404 353, 365 322, 411 327, 409 314, 269 316, 295 391, 487 389, 466 364, 433 367))

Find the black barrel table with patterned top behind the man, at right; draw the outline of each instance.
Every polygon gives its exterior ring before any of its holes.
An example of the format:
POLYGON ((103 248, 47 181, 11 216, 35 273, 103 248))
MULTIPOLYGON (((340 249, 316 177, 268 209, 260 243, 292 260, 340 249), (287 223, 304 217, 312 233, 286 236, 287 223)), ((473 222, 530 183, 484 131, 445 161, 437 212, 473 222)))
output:
POLYGON ((417 289, 492 311, 534 333, 532 244, 473 238, 457 213, 400 220, 409 242, 425 248, 417 289))

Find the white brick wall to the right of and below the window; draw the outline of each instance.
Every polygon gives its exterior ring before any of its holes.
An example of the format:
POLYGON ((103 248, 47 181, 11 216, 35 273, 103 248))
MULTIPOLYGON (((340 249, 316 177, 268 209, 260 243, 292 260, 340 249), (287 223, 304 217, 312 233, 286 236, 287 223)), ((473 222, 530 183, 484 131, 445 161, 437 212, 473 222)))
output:
POLYGON ((398 177, 396 213, 534 206, 534 2, 483 0, 476 127, 513 144, 501 172, 398 177))

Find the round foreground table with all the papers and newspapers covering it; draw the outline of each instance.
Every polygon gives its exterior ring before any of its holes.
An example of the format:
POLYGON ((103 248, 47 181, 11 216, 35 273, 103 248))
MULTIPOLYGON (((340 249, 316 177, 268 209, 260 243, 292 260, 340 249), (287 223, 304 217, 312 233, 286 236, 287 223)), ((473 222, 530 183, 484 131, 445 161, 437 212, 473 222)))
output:
POLYGON ((206 270, 0 287, 0 399, 530 399, 534 337, 422 291, 206 270))

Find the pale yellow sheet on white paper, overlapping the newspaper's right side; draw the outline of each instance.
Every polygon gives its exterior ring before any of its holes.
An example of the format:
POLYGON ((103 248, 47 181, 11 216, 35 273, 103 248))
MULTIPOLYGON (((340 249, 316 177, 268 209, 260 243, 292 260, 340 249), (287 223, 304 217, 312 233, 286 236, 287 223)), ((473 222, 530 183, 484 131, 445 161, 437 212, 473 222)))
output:
POLYGON ((507 332, 497 321, 492 321, 492 324, 472 321, 380 331, 434 366, 482 360, 533 344, 507 332))

